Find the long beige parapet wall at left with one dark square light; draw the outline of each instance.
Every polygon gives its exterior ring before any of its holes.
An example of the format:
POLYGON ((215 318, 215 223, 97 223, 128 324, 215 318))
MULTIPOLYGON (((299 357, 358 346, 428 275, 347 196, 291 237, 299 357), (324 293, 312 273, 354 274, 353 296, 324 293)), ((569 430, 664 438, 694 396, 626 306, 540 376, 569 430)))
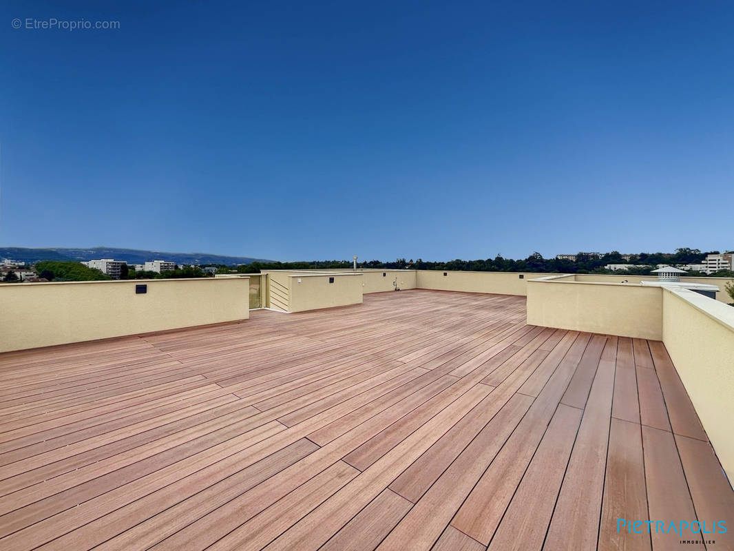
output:
POLYGON ((249 278, 0 284, 0 352, 250 317, 249 278), (136 285, 147 285, 136 294, 136 285))

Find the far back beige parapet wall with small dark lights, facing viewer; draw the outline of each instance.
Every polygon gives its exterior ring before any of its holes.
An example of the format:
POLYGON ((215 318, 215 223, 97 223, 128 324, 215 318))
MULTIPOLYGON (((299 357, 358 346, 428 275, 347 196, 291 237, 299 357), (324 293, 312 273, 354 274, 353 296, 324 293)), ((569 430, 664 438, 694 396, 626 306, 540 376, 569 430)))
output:
POLYGON ((487 292, 498 295, 527 294, 528 279, 552 275, 531 272, 451 272, 443 275, 440 270, 417 270, 419 289, 440 291, 487 292), (523 275, 523 278, 520 278, 523 275))

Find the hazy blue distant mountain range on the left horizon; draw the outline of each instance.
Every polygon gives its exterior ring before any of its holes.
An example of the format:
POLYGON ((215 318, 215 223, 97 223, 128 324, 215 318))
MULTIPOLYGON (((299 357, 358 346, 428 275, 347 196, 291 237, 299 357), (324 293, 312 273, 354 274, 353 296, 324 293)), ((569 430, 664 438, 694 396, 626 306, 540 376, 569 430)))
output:
POLYGON ((176 264, 250 264, 251 262, 273 262, 253 259, 250 256, 222 256, 209 253, 166 253, 163 251, 140 251, 115 247, 94 248, 25 248, 0 247, 0 259, 13 259, 32 264, 39 260, 124 260, 128 264, 143 264, 150 260, 167 260, 176 264))

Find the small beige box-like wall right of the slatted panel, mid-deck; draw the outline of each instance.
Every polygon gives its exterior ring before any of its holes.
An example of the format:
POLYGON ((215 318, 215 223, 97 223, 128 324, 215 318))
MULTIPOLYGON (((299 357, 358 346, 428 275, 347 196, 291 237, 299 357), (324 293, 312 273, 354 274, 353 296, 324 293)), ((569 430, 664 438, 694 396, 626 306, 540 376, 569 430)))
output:
POLYGON ((294 274, 291 279, 291 311, 317 310, 362 303, 362 277, 360 273, 342 274, 294 274), (329 278, 334 283, 329 283, 329 278))

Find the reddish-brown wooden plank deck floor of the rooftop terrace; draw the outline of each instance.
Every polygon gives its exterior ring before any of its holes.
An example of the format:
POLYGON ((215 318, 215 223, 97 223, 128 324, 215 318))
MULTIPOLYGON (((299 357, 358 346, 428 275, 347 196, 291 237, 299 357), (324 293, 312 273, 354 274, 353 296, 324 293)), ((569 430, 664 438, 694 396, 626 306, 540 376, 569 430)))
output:
POLYGON ((4 551, 670 550, 617 519, 734 522, 664 346, 526 325, 521 297, 7 353, 0 414, 4 551))

